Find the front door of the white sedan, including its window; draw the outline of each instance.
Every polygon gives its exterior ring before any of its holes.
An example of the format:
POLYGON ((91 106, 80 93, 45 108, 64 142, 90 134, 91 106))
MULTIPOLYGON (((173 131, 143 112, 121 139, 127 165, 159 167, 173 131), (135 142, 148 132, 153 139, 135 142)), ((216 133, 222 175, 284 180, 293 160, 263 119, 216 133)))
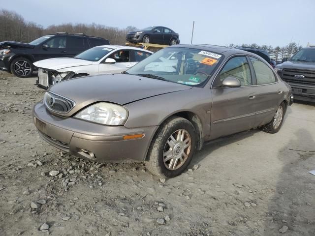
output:
MULTIPOLYGON (((115 59, 114 64, 105 63, 104 59, 98 67, 99 74, 121 73, 131 67, 133 62, 130 61, 130 50, 117 50, 110 54, 107 58, 115 59)), ((134 63, 135 64, 135 63, 134 63)))

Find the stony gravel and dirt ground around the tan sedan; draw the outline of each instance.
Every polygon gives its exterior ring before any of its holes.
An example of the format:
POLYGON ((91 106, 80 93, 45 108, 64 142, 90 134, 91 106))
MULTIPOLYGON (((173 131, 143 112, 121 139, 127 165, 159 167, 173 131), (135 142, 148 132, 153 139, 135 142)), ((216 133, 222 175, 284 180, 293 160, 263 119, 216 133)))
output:
POLYGON ((35 78, 0 72, 0 236, 313 236, 315 106, 294 103, 278 134, 213 142, 173 179, 143 163, 100 164, 42 141, 35 78))

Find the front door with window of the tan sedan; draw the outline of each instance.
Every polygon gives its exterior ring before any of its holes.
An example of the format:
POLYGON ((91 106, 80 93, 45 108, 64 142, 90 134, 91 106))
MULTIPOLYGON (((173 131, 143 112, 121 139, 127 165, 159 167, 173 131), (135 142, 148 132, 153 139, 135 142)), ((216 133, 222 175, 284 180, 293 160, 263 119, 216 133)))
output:
POLYGON ((212 89, 211 133, 216 139, 244 130, 255 123, 255 86, 245 56, 229 59, 215 78, 212 89), (240 88, 222 88, 227 77, 237 78, 240 88))

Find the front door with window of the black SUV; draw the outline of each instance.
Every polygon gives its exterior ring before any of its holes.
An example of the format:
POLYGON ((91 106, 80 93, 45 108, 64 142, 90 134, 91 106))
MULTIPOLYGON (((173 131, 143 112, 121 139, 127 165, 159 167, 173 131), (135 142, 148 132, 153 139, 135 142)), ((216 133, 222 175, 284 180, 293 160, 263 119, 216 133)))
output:
POLYGON ((60 35, 50 38, 44 42, 34 53, 35 60, 43 60, 49 58, 67 57, 66 54, 67 37, 60 35), (46 47, 43 47, 46 46, 46 47))

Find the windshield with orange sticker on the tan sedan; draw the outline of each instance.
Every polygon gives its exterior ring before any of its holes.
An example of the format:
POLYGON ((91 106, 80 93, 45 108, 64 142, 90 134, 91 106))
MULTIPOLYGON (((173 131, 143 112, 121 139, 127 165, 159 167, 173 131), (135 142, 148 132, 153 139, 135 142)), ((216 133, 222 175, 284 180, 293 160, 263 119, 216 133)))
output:
POLYGON ((212 75, 222 55, 192 48, 164 48, 126 73, 197 86, 212 75))

